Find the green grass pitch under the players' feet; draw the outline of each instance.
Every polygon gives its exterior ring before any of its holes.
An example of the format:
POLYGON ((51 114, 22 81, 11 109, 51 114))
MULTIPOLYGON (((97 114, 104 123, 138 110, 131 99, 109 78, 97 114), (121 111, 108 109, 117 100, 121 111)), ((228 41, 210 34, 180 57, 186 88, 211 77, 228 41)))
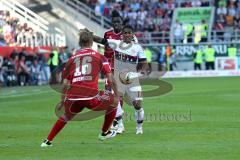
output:
POLYGON ((0 160, 240 159, 240 78, 166 81, 172 92, 144 101, 143 135, 135 135, 134 112, 125 105, 123 135, 99 141, 103 117, 70 122, 44 149, 58 94, 48 86, 1 89, 0 160))

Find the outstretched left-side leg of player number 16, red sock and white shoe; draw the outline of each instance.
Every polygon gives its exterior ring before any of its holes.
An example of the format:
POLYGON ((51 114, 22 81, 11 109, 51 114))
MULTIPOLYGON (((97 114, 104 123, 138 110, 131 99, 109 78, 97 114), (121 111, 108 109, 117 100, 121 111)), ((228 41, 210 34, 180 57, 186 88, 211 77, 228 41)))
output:
POLYGON ((64 128, 67 122, 70 121, 76 115, 76 113, 79 113, 83 110, 83 107, 79 107, 76 101, 67 100, 61 105, 64 105, 65 112, 53 125, 47 139, 44 140, 44 142, 41 144, 41 147, 52 146, 53 139, 64 128))

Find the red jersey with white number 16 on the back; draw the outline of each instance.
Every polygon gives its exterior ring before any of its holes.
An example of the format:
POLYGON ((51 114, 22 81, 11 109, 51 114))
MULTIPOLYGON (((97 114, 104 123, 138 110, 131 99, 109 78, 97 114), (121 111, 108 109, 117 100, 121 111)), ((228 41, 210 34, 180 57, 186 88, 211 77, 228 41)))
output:
POLYGON ((78 50, 67 62, 63 79, 70 81, 66 98, 88 100, 98 94, 99 73, 111 73, 109 63, 103 55, 87 48, 78 50))

